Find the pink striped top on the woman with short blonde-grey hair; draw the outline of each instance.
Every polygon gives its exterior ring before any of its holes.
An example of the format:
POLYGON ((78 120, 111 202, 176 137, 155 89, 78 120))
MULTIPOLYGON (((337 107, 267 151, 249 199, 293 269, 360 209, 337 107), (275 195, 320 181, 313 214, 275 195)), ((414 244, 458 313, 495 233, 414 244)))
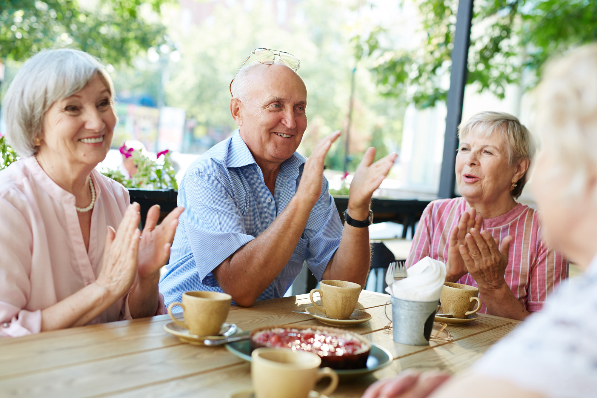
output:
MULTIPOLYGON (((464 198, 429 203, 418 223, 407 268, 425 256, 447 262, 450 231, 465 211, 464 198)), ((507 235, 512 236, 504 277, 516 298, 530 312, 540 311, 553 287, 568 277, 568 260, 541 240, 539 217, 537 210, 518 203, 501 216, 485 219, 482 225, 482 229, 490 232, 498 245, 507 235)), ((470 274, 464 275, 458 282, 477 286, 470 274)), ((487 314, 487 307, 483 305, 479 312, 487 314)))

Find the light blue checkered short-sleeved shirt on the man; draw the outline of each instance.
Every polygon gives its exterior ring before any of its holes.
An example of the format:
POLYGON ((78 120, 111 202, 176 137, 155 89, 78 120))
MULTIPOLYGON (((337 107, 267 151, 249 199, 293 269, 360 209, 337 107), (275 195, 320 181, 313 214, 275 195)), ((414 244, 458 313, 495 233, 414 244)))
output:
MULTIPOLYGON (((180 301, 182 293, 189 290, 222 291, 211 271, 265 231, 285 209, 296 193, 305 160, 294 152, 280 165, 273 197, 238 130, 191 164, 179 188, 178 204, 185 210, 174 237, 168 271, 159 282, 166 305, 180 301)), ((284 296, 303 268, 303 261, 321 280, 342 232, 324 177, 321 196, 293 255, 257 300, 284 296)))

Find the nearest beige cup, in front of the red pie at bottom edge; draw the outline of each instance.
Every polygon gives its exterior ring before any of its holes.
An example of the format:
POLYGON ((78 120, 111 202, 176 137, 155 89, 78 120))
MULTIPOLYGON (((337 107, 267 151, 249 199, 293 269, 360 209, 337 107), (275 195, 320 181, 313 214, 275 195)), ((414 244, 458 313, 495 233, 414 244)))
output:
POLYGON ((257 348, 251 354, 251 379, 257 398, 307 398, 330 395, 338 387, 338 374, 319 369, 321 358, 307 351, 287 348, 257 348), (321 393, 312 391, 324 377, 330 385, 321 393))

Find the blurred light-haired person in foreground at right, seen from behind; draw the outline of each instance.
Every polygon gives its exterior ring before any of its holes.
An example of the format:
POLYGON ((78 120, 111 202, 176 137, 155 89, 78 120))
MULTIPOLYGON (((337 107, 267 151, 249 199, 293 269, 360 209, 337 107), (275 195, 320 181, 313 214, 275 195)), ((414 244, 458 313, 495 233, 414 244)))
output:
MULTIPOLYGON (((498 342, 466 374, 405 372, 364 398, 595 397, 597 391, 597 45, 550 63, 537 88, 532 188, 546 241, 583 274, 498 342)), ((460 246, 466 256, 466 246, 460 246)))

